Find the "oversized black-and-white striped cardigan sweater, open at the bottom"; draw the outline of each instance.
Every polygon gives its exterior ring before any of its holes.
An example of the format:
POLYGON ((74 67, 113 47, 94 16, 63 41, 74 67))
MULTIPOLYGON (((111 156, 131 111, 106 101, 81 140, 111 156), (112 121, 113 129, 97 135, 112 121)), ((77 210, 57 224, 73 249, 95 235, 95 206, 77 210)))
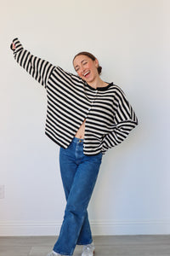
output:
POLYGON ((94 89, 77 75, 31 55, 18 38, 13 42, 16 61, 47 90, 45 133, 54 143, 67 148, 86 119, 84 154, 105 154, 138 125, 133 108, 115 84, 94 89))

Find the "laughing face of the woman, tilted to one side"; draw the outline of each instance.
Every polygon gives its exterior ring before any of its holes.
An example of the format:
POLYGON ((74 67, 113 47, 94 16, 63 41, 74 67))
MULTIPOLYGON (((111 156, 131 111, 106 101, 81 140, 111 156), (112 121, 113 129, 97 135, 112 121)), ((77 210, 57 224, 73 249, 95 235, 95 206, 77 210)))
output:
POLYGON ((78 76, 87 83, 93 83, 99 77, 99 61, 93 61, 87 55, 78 55, 73 61, 74 68, 78 76))

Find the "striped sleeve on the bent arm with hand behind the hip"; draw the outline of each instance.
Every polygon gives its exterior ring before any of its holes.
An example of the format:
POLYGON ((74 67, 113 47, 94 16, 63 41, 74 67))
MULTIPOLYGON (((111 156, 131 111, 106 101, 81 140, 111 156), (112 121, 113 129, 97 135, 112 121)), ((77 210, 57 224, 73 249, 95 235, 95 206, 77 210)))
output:
POLYGON ((127 102, 126 96, 122 90, 117 90, 116 96, 116 113, 113 120, 112 131, 106 134, 103 140, 102 152, 105 152, 119 143, 122 143, 130 131, 138 125, 138 119, 133 111, 132 106, 127 102))

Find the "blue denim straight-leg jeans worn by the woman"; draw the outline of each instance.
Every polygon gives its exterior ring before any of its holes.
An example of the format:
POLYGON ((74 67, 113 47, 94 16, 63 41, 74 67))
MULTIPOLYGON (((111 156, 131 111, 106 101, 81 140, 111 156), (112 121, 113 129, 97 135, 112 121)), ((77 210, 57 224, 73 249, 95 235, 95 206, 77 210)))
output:
POLYGON ((60 148, 59 165, 65 190, 65 216, 54 252, 72 255, 77 244, 91 243, 88 203, 99 173, 102 153, 83 154, 83 140, 76 137, 68 148, 60 148))

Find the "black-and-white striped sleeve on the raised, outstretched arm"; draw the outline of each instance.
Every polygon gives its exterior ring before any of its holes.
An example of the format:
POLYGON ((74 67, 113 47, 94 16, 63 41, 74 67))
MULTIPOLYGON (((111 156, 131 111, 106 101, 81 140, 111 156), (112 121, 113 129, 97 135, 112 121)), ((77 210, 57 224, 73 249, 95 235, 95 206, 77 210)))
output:
POLYGON ((28 50, 23 48, 18 38, 14 38, 13 43, 15 45, 14 59, 21 67, 26 69, 38 83, 46 87, 49 75, 54 69, 54 66, 48 61, 44 61, 37 56, 31 55, 28 50))

